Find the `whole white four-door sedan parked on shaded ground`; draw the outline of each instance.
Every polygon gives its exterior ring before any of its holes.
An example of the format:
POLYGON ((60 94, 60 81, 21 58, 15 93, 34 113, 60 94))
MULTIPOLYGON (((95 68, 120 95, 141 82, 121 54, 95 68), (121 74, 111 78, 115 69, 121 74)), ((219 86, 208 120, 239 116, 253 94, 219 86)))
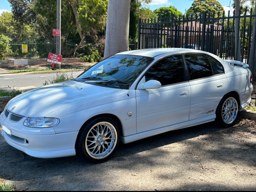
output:
POLYGON ((120 142, 215 120, 232 126, 251 102, 247 67, 193 49, 120 52, 70 81, 14 97, 1 134, 29 156, 102 163, 120 142))

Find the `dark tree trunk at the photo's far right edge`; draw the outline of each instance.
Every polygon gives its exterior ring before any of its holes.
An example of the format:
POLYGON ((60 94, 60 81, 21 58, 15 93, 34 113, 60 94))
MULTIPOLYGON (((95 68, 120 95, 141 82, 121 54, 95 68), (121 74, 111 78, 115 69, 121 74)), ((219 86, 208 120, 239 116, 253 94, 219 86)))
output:
MULTIPOLYGON (((255 3, 255 8, 254 8, 254 14, 256 13, 256 3, 255 3)), ((249 58, 249 68, 253 73, 256 72, 256 67, 255 67, 255 63, 256 63, 256 18, 254 18, 253 20, 253 32, 252 32, 252 45, 251 45, 251 49, 250 49, 250 58, 249 58)))

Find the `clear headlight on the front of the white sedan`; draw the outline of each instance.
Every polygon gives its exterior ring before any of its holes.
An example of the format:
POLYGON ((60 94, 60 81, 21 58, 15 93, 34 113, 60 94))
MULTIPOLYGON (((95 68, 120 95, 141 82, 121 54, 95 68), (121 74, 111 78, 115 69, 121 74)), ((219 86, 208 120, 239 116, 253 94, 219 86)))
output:
POLYGON ((58 118, 44 118, 44 117, 28 117, 24 121, 26 127, 45 128, 58 125, 60 120, 58 118))

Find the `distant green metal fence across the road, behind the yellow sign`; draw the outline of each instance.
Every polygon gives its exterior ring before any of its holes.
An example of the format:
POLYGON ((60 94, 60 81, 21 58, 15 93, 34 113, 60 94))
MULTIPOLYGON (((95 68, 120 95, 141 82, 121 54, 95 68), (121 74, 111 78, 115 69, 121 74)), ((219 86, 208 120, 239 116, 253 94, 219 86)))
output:
MULTIPOLYGON (((47 58, 49 52, 56 53, 56 40, 45 40, 35 38, 11 38, 10 47, 12 49, 11 58, 47 58), (22 45, 28 46, 28 52, 22 52, 22 45)), ((84 45, 83 48, 78 49, 76 52, 70 52, 80 40, 66 40, 61 42, 61 55, 63 58, 77 57, 88 54, 89 45, 84 45)))

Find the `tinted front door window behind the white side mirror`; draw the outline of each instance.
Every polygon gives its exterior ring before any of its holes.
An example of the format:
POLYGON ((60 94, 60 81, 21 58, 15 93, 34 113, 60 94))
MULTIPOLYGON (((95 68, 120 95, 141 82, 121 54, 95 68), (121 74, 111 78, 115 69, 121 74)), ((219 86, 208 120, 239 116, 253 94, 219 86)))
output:
POLYGON ((182 55, 169 56, 157 61, 145 74, 145 80, 157 80, 162 86, 184 81, 182 55))

